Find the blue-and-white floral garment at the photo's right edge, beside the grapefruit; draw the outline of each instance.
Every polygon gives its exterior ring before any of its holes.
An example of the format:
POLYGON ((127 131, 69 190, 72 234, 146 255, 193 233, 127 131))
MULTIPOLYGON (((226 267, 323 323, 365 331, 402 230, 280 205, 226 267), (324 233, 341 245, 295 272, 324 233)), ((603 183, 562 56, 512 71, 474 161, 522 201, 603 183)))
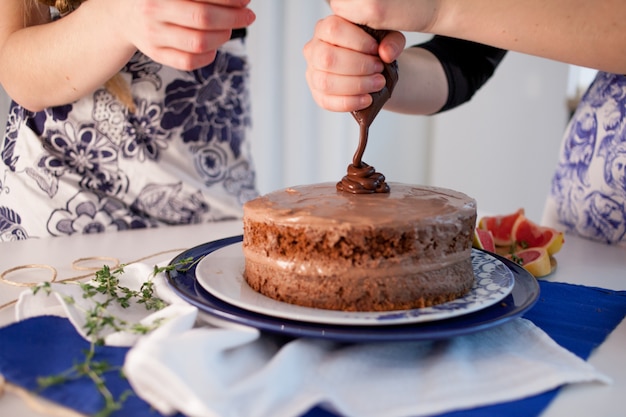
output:
POLYGON ((565 132, 543 222, 626 245, 626 76, 599 72, 565 132))

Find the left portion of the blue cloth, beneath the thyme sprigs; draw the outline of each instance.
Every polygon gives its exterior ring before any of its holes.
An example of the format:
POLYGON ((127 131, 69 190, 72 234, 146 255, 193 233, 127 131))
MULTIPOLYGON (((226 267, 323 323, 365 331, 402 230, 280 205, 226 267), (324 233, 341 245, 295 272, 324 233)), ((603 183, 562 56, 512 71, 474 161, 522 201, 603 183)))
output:
MULTIPOLYGON (((0 329, 0 374, 6 381, 52 402, 93 415, 102 410, 105 403, 94 383, 87 377, 44 390, 40 389, 37 382, 40 376, 59 375, 72 368, 75 363, 82 361, 89 347, 89 343, 65 318, 40 316, 27 319, 0 329)), ((98 346, 93 358, 95 362, 106 362, 117 367, 104 373, 106 386, 114 398, 119 398, 124 392, 132 392, 130 384, 119 370, 127 352, 128 348, 98 346)), ((123 405, 121 410, 110 416, 161 416, 136 395, 129 396, 123 405)), ((182 414, 178 416, 182 417, 182 414)))

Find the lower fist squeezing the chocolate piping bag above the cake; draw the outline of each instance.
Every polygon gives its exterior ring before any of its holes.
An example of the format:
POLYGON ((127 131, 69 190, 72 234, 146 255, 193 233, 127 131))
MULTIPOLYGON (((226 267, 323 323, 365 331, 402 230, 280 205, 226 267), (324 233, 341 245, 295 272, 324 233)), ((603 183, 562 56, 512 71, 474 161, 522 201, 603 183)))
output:
POLYGON ((338 16, 328 16, 315 26, 304 46, 306 80, 313 99, 322 108, 337 112, 361 110, 372 103, 369 93, 385 86, 384 62, 393 62, 406 39, 391 31, 380 42, 363 29, 338 16))

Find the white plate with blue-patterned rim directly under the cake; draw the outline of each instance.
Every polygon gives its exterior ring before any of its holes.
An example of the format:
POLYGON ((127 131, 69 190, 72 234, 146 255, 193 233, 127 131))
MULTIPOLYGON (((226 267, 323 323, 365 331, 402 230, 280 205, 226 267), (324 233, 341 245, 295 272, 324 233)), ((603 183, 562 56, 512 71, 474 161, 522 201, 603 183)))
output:
POLYGON ((473 313, 504 299, 515 284, 511 270, 495 257, 472 250, 476 281, 464 297, 432 307, 385 312, 346 312, 301 307, 276 301, 250 288, 243 277, 241 243, 206 255, 196 267, 196 279, 213 296, 234 306, 290 320, 350 326, 395 325, 443 320, 473 313))

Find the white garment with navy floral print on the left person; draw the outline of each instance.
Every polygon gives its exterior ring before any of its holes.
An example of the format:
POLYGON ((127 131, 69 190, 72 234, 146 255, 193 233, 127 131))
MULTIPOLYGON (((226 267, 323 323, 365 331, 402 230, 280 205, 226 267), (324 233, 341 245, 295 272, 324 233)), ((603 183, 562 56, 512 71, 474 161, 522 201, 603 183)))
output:
POLYGON ((256 197, 243 41, 195 71, 137 53, 136 105, 106 89, 30 112, 12 103, 0 144, 0 241, 238 218, 256 197))

